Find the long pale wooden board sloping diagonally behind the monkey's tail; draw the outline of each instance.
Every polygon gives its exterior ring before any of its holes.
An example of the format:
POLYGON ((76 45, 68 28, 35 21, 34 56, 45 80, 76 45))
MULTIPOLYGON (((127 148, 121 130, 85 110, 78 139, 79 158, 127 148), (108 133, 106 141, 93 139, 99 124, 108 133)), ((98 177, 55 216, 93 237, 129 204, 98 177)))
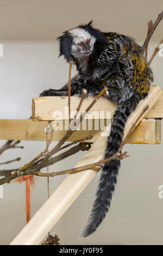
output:
MULTIPOLYGON (((145 117, 146 113, 151 109, 156 100, 159 99, 161 93, 162 92, 159 88, 153 88, 147 99, 139 103, 127 121, 124 136, 127 135, 133 123, 136 122, 136 125, 139 124, 141 119, 145 117), (141 115, 141 118, 139 118, 143 109, 147 105, 149 108, 141 115), (137 118, 139 118, 139 120, 137 120, 137 118)), ((106 137, 100 136, 92 145, 92 148, 87 151, 85 156, 77 163, 76 167, 84 166, 103 159, 105 144, 106 137)), ((69 174, 46 203, 43 204, 40 210, 36 212, 32 220, 28 222, 28 224, 11 242, 11 245, 39 245, 43 237, 45 237, 48 231, 52 229, 53 225, 60 219, 74 200, 76 200, 96 173, 97 168, 93 168, 85 170, 84 172, 69 174)))

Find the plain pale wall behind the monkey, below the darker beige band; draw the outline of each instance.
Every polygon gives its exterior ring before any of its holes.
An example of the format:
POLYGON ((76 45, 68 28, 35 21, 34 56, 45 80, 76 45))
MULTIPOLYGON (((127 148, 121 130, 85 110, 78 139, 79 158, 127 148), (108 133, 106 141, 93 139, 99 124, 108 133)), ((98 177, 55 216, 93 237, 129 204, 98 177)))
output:
MULTIPOLYGON (((0 1, 0 5, 1 2, 3 1, 0 1)), ((108 1, 108 10, 109 4, 111 3, 112 1, 108 1)), ((160 4, 161 2, 158 1, 158 3, 160 4)), ((141 3, 143 8, 145 8, 144 5, 146 4, 141 3)), ((4 4, 2 5, 3 7, 4 4)), ((126 5, 126 8, 128 8, 128 11, 133 11, 134 7, 131 7, 131 5, 128 7, 126 5)), ((150 5, 149 9, 151 11, 152 5, 150 5)), ((156 17, 159 11, 161 11, 161 5, 155 10, 154 17, 156 17)), ((127 11, 125 14, 127 15, 127 11)), ((9 14, 6 13, 6 15, 9 14)), ((118 19, 116 12, 114 16, 115 19, 118 19)), ((122 18, 122 16, 119 17, 120 20, 122 18)), ((89 17, 87 16, 85 19, 89 20, 89 17)), ((103 19, 102 16, 101 19, 103 19)), ((149 19, 151 19, 151 16, 148 17, 146 23, 149 19)), ((135 22, 139 22, 136 20, 136 16, 133 17, 134 26, 135 22)), ((62 21, 63 28, 64 23, 67 26, 67 21, 62 21)), ((78 23, 76 17, 74 26, 78 23)), ((4 23, 4 26, 5 24, 8 25, 7 21, 4 23)), ((120 26, 119 31, 121 31, 121 22, 118 25, 120 26)), ((129 22, 127 26, 131 27, 132 24, 129 22)), ((137 26, 141 30, 140 23, 137 26)), ((162 29, 163 25, 160 26, 162 29)), ((2 24, 0 28, 3 28, 2 24)), ((29 33, 26 28, 24 35, 26 35, 26 31, 27 34, 29 33)), ((15 29, 15 33, 18 32, 19 29, 15 29)), ((41 34, 41 32, 39 33, 41 34)), ((39 39, 39 41, 33 41, 32 38, 29 38, 30 40, 22 40, 20 34, 18 35, 20 40, 14 40, 13 38, 7 38, 7 35, 3 33, 2 35, 4 36, 1 38, 0 31, 0 43, 4 46, 4 57, 0 57, 1 119, 28 118, 31 114, 32 97, 39 95, 43 89, 60 88, 67 81, 68 77, 68 65, 64 59, 58 59, 59 49, 55 40, 39 39)), ((144 34, 146 36, 146 32, 144 34)), ((56 37, 54 36, 54 39, 56 37)), ((158 36, 155 41, 151 42, 149 56, 151 56, 160 39, 158 36)), ((137 42, 142 45, 139 36, 137 36, 137 42)), ((156 56, 152 63, 152 69, 154 71, 155 84, 163 88, 162 62, 163 57, 156 56)), ((73 73, 75 72, 76 70, 74 69, 73 73)), ((3 144, 4 141, 0 141, 0 147, 3 144)), ((22 157, 21 161, 2 166, 1 169, 15 168, 33 159, 45 147, 45 142, 22 141, 21 145, 24 145, 23 150, 10 149, 5 151, 0 157, 0 162, 14 159, 17 156, 22 157)), ((76 202, 73 203, 70 209, 66 211, 64 216, 60 218, 51 230, 52 234, 59 235, 62 245, 162 244, 163 199, 158 198, 158 187, 163 185, 163 146, 162 144, 128 144, 125 149, 130 154, 130 157, 122 161, 115 195, 104 222, 95 234, 87 237, 87 239, 78 240, 77 237, 84 227, 86 216, 91 208, 93 196, 95 195, 99 178, 99 174, 97 174, 96 178, 91 181, 76 202)), ((84 153, 79 153, 76 157, 72 156, 67 160, 56 163, 50 167, 50 170, 73 167, 82 155, 84 153)), ((63 176, 58 176, 50 180, 51 193, 64 178, 63 176)), ((35 188, 31 193, 32 216, 47 200, 47 179, 36 178, 35 183, 35 188)), ((11 184, 3 185, 3 188, 4 199, 0 199, 0 244, 7 245, 26 224, 25 186, 24 184, 19 185, 11 182, 11 184)))

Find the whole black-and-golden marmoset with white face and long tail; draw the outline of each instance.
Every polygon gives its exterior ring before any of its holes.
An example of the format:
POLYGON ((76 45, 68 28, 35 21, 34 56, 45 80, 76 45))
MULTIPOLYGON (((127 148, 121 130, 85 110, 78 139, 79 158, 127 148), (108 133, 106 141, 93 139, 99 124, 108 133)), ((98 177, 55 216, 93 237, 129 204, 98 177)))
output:
MULTIPOLYGON (((104 158, 116 153, 121 145, 126 121, 140 100, 148 95, 153 82, 152 70, 142 54, 142 47, 129 36, 105 33, 86 25, 65 31, 59 38, 60 56, 73 60, 79 75, 71 80, 71 95, 97 95, 104 87, 103 96, 119 104, 111 123, 104 158)), ((67 95, 67 84, 60 90, 49 89, 40 96, 67 95)), ((82 236, 92 234, 109 210, 117 182, 120 160, 105 163, 96 192, 96 199, 82 236)))

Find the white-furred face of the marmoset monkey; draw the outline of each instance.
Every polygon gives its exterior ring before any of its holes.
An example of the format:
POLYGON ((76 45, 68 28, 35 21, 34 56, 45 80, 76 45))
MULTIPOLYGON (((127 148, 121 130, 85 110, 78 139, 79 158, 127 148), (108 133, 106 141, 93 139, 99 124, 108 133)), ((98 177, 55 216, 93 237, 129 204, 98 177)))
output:
POLYGON ((71 54, 75 58, 89 56, 93 51, 96 38, 82 28, 71 29, 69 33, 73 37, 71 54))

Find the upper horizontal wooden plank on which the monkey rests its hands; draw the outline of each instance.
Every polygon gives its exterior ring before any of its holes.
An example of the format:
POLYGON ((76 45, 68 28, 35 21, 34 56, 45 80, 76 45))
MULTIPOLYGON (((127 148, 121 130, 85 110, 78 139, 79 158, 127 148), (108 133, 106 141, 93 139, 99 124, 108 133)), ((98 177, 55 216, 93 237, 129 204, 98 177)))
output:
MULTIPOLYGON (((153 88, 155 86, 151 86, 153 88)), ((34 121, 45 121, 45 120, 55 120, 57 118, 57 112, 60 113, 60 120, 68 120, 68 99, 67 97, 34 97, 32 101, 32 118, 34 121)), ((92 102, 92 97, 87 97, 83 101, 80 113, 85 111, 87 106, 92 102)), ((71 97, 71 111, 76 111, 79 103, 78 96, 71 97)), ((98 113, 106 111, 111 113, 111 117, 115 112, 117 106, 111 101, 101 98, 96 104, 91 108, 91 112, 96 112, 96 117, 94 115, 87 115, 87 119, 99 119, 98 113), (98 113, 97 113, 98 109, 98 113)), ((74 114, 74 113, 72 113, 74 114)), ((106 118, 106 117, 105 117, 106 118)), ((163 94, 154 104, 151 111, 148 112, 145 118, 163 118, 163 94)))

